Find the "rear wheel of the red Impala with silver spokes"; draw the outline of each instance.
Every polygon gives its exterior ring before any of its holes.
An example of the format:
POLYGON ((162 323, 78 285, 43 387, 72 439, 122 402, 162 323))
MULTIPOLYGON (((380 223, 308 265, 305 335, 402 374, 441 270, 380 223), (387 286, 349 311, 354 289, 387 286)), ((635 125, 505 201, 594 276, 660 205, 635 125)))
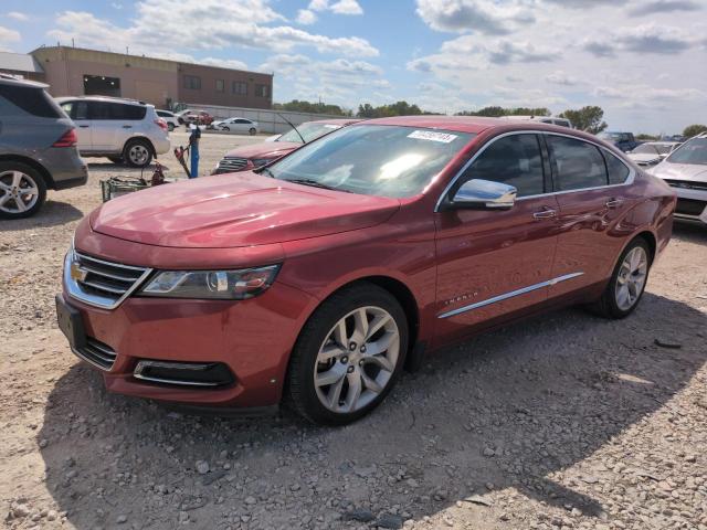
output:
POLYGON ((651 269, 651 248, 643 237, 636 237, 623 251, 609 285, 590 308, 604 318, 624 318, 639 305, 651 269))

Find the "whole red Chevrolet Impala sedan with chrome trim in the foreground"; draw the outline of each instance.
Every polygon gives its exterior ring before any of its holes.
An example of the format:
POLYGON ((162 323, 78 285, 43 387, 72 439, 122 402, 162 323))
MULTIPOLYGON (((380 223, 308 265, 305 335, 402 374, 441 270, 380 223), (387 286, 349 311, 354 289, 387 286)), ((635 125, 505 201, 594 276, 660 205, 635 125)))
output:
POLYGON ((362 121, 95 210, 59 324, 113 392, 344 424, 425 351, 570 304, 631 314, 675 202, 567 128, 362 121))

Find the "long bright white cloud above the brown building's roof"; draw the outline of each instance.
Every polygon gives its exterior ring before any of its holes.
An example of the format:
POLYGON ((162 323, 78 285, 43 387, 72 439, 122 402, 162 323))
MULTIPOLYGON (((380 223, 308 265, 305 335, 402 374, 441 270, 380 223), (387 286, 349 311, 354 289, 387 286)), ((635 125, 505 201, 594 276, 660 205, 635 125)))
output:
POLYGON ((279 23, 284 17, 266 0, 223 2, 201 0, 198 4, 179 0, 150 0, 136 4, 136 18, 128 26, 118 26, 83 11, 65 11, 56 18, 57 28, 48 34, 64 42, 74 39, 77 45, 116 49, 130 46, 136 53, 154 54, 173 50, 238 50, 239 46, 287 52, 294 47, 312 47, 321 53, 348 56, 376 56, 378 50, 359 36, 337 36, 309 33, 279 23), (165 13, 170 13, 165 17, 165 13), (160 20, 155 24, 155 20, 160 20), (186 31, 186 28, 210 28, 209 31, 186 31))

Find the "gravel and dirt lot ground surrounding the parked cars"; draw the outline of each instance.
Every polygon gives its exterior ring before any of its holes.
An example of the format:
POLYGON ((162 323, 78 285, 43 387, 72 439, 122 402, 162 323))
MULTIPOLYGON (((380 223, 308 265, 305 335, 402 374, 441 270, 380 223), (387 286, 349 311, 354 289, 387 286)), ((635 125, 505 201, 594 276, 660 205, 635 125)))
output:
MULTIPOLYGON (((250 141, 205 136, 202 173, 250 141)), ((93 159, 88 186, 0 224, 6 527, 707 529, 707 230, 676 227, 624 321, 478 337, 345 428, 236 421, 108 395, 55 327, 71 235, 130 172, 93 159)))

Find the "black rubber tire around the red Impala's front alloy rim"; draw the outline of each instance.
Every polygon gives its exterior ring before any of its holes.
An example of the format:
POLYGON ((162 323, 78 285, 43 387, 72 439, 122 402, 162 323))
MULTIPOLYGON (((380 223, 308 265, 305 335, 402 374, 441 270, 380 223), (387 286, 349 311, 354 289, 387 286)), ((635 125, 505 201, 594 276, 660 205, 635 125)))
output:
POLYGON ((319 425, 346 425, 359 420, 378 406, 394 386, 405 362, 408 340, 405 312, 395 297, 386 289, 361 282, 334 294, 309 317, 299 333, 289 360, 285 403, 306 420, 319 425), (398 360, 387 385, 371 402, 355 412, 337 413, 324 406, 317 396, 314 382, 317 356, 334 326, 349 312, 366 306, 381 308, 393 318, 400 337, 398 360))

